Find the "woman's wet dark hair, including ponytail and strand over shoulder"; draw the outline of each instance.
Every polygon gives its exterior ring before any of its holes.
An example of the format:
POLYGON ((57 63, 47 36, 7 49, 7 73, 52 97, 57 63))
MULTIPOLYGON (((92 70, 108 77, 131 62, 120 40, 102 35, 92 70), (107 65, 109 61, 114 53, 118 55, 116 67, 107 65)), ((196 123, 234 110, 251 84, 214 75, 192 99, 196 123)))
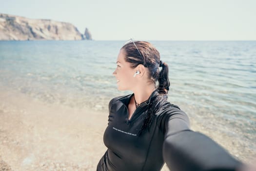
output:
POLYGON ((158 102, 161 102, 162 98, 167 99, 167 93, 170 86, 168 78, 169 68, 166 63, 162 63, 162 61, 160 61, 160 54, 151 43, 144 41, 136 41, 134 43, 127 43, 121 48, 125 54, 125 61, 129 62, 132 68, 137 67, 139 64, 144 65, 149 71, 148 77, 155 83, 160 95, 159 97, 152 98, 150 101, 147 115, 140 130, 140 133, 142 133, 144 130, 150 128, 150 125, 154 120, 155 113, 161 104, 158 102), (161 67, 161 70, 159 67, 161 67))

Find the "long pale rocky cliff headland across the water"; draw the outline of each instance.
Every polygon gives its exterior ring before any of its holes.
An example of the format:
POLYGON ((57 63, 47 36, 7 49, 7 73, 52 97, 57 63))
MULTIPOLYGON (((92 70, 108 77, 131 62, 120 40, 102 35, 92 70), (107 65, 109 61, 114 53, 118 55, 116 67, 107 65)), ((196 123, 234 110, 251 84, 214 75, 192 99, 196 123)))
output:
POLYGON ((0 40, 24 41, 83 39, 84 36, 79 32, 77 27, 68 22, 28 19, 25 17, 0 14, 0 40))

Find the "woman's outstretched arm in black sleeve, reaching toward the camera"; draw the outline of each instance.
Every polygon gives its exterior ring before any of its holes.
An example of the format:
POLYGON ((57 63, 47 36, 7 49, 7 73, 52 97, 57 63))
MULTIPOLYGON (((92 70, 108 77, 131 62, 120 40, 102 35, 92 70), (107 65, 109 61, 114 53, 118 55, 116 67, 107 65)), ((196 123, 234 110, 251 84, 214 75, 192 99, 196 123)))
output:
POLYGON ((163 157, 171 171, 235 171, 242 164, 206 135, 189 130, 183 115, 165 124, 163 157))

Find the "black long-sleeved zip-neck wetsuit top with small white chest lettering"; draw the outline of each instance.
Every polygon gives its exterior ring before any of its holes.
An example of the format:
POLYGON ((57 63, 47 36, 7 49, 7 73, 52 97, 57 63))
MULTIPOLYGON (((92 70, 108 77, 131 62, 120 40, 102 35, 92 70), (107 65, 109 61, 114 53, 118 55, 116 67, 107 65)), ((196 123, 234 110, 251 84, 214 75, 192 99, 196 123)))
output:
POLYGON ((227 162, 222 168, 235 169, 240 165, 210 138, 191 131, 186 113, 167 100, 155 113, 149 131, 138 135, 148 104, 158 95, 158 91, 154 91, 146 102, 138 106, 130 120, 128 104, 132 94, 110 101, 108 127, 103 138, 108 150, 100 159, 97 171, 160 171, 164 162, 172 171, 206 171, 219 169, 212 161, 218 154, 224 155, 227 162), (205 152, 209 142, 212 143, 210 148, 220 153, 205 152))

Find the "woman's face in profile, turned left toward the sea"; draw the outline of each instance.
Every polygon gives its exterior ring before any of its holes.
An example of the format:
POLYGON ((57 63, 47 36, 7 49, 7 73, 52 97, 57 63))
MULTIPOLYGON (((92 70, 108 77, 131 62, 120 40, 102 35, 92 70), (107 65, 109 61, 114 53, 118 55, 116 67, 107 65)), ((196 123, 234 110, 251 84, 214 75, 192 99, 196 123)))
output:
POLYGON ((117 68, 113 75, 117 79, 118 90, 131 90, 135 85, 133 75, 136 72, 135 68, 131 68, 131 64, 125 61, 124 51, 121 49, 118 54, 117 68))

